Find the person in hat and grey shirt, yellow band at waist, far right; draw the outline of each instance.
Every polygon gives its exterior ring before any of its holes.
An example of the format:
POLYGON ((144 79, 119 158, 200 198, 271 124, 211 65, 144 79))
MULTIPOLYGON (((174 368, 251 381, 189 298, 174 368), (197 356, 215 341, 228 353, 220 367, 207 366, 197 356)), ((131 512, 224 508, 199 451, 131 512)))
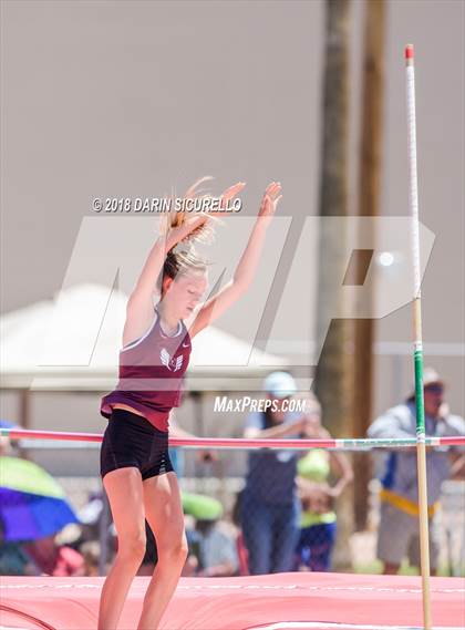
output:
MULTIPOLYGON (((426 436, 465 434, 465 422, 453 415, 444 402, 444 382, 431 368, 423 375, 426 436)), ((369 437, 415 437, 415 393, 388 410, 368 431, 369 437)), ((458 462, 457 447, 427 448, 426 475, 430 516, 430 558, 432 574, 436 572, 438 545, 433 517, 440 506, 442 483, 451 476, 452 465, 458 462)), ((381 514, 378 536, 378 557, 384 562, 384 574, 396 574, 404 557, 420 566, 418 488, 415 447, 391 451, 381 475, 381 514)))

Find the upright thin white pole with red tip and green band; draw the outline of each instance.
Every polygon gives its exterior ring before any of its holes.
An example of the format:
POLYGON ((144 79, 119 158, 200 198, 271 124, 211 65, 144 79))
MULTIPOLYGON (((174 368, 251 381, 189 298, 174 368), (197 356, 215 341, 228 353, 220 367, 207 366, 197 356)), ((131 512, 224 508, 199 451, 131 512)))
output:
POLYGON ((420 221, 418 221, 418 186, 416 174, 416 117, 415 117, 415 70, 413 64, 413 45, 405 47, 405 78, 407 106, 407 148, 409 148, 409 206, 412 216, 412 252, 413 252, 413 329, 414 329, 414 366, 415 366, 415 405, 416 405, 416 463, 418 474, 420 504, 420 559, 422 570, 423 626, 431 630, 431 593, 430 593, 430 534, 427 514, 426 482, 426 443, 425 409, 423 396, 423 339, 422 339, 422 293, 420 267, 420 221))

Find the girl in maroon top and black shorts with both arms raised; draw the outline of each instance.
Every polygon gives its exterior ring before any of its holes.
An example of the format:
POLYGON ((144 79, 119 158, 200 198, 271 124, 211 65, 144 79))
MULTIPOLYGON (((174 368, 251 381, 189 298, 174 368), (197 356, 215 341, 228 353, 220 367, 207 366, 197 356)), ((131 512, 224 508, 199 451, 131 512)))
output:
MULTIPOLYGON (((204 180, 194 184, 186 197, 195 197, 204 180)), ((239 183, 228 188, 221 207, 244 186, 239 183)), ((158 562, 145 593, 137 630, 158 628, 175 592, 187 541, 179 487, 168 455, 169 411, 179 404, 192 339, 249 288, 280 192, 279 183, 267 187, 232 279, 204 303, 189 330, 184 319, 202 302, 208 283, 207 267, 193 251, 177 251, 176 246, 205 236, 213 219, 202 213, 162 217, 165 237, 152 247, 127 302, 118 384, 101 403, 101 414, 108 419, 101 448, 101 476, 118 544, 102 589, 99 630, 117 627, 145 554, 145 518, 156 539, 158 562), (154 287, 161 276, 159 300, 154 307, 154 287)))

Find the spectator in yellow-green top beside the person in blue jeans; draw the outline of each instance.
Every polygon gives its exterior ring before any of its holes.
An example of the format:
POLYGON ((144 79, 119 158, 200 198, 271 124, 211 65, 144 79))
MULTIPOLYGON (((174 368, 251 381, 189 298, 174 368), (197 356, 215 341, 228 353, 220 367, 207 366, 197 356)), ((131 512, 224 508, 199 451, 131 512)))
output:
MULTIPOLYGON (((307 400, 306 415, 308 424, 303 437, 331 437, 321 426, 321 406, 313 395, 307 400)), ((302 516, 294 570, 328 571, 337 531, 333 502, 353 481, 352 467, 343 453, 312 448, 298 461, 297 471, 302 516), (337 479, 333 486, 329 483, 330 476, 337 479)))

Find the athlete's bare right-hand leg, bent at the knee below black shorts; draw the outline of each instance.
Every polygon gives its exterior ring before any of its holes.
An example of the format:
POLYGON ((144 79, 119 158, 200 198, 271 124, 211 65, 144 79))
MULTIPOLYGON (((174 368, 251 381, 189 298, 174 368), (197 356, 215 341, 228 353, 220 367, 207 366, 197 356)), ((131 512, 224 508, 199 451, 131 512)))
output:
POLYGON ((158 562, 147 588, 137 630, 156 630, 176 590, 187 557, 184 515, 175 473, 143 483, 148 525, 154 533, 158 562))

